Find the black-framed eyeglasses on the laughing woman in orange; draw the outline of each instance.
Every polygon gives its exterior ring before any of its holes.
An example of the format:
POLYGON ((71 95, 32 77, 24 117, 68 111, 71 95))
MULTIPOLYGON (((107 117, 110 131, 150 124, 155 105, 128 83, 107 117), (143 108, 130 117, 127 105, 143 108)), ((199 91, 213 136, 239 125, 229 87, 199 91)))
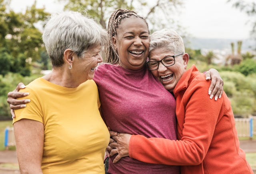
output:
POLYGON ((165 67, 170 67, 170 66, 174 65, 175 57, 177 57, 179 55, 182 55, 182 54, 184 54, 184 53, 181 53, 181 54, 178 54, 178 55, 167 56, 167 57, 164 57, 163 59, 158 60, 158 61, 148 61, 147 62, 148 69, 150 71, 154 71, 154 70, 158 69, 159 62, 161 62, 165 67))

